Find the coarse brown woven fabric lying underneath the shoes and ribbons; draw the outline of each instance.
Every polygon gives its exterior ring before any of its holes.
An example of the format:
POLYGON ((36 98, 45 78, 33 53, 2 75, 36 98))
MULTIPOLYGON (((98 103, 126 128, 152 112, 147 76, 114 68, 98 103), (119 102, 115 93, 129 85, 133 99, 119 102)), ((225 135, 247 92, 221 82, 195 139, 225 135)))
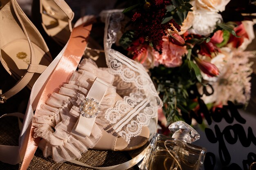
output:
MULTIPOLYGON (((18 146, 18 136, 20 131, 17 119, 18 118, 16 117, 4 117, 0 119, 0 144, 18 146)), ((81 159, 79 159, 79 161, 90 166, 99 167, 113 166, 119 163, 124 163, 128 160, 130 160, 130 156, 127 152, 99 150, 88 150, 88 152, 82 154, 81 159)), ((21 163, 17 165, 10 165, 0 162, 0 170, 18 170, 20 166, 21 163)), ((138 168, 135 166, 129 170, 137 169, 138 168)), ((36 150, 27 170, 91 170, 91 168, 85 168, 70 162, 55 163, 51 157, 45 158, 43 156, 43 152, 38 149, 36 150)))

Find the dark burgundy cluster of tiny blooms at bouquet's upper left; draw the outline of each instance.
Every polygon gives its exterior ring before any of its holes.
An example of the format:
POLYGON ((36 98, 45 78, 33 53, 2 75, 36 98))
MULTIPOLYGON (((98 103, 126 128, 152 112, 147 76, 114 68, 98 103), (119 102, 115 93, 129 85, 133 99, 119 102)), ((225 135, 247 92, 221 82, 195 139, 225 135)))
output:
POLYGON ((167 35, 166 30, 174 31, 175 28, 180 31, 180 25, 173 19, 161 24, 166 14, 166 6, 170 4, 171 0, 150 0, 132 16, 132 22, 135 22, 137 27, 135 36, 143 37, 145 41, 152 43, 153 48, 160 54, 162 53, 162 37, 167 35))

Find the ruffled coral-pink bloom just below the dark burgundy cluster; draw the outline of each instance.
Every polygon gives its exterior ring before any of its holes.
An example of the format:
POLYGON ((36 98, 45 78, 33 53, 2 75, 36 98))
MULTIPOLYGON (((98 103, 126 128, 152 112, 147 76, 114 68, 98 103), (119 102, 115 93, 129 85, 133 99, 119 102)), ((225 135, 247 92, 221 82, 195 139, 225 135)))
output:
POLYGON ((167 36, 163 37, 163 53, 160 55, 158 52, 155 54, 155 66, 163 64, 166 67, 177 67, 182 64, 182 56, 188 51, 186 46, 178 46, 169 41, 167 36))

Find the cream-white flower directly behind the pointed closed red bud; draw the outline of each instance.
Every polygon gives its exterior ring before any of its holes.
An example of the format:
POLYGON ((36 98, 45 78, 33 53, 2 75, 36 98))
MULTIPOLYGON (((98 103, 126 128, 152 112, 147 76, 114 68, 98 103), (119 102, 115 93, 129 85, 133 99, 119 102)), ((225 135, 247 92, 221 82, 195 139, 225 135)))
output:
POLYGON ((211 64, 214 64, 218 69, 220 74, 218 77, 209 77, 208 75, 201 73, 204 80, 207 80, 208 82, 216 82, 219 77, 222 77, 227 72, 229 62, 231 61, 233 57, 232 50, 228 47, 223 47, 220 49, 220 53, 216 55, 216 57, 213 57, 212 59, 209 57, 203 56, 202 59, 208 60, 208 62, 211 62, 211 64))

